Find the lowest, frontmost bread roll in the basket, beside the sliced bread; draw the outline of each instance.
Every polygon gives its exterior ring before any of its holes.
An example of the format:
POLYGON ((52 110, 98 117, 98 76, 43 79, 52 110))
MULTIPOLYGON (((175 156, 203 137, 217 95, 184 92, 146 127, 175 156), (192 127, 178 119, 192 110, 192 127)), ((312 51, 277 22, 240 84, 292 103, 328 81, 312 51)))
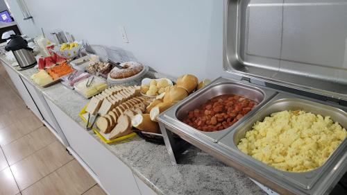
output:
POLYGON ((135 117, 133 117, 133 119, 131 120, 131 124, 138 130, 150 133, 159 132, 158 123, 151 121, 149 114, 135 115, 135 117))

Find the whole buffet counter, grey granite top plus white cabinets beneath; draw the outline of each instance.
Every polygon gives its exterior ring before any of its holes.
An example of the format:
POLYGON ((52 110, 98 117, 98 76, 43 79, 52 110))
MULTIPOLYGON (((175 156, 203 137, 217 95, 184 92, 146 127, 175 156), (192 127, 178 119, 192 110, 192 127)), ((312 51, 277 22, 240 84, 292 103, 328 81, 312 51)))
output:
POLYGON ((0 60, 26 104, 34 102, 28 107, 108 194, 265 194, 244 173, 195 147, 185 152, 180 164, 172 165, 164 145, 138 136, 115 144, 101 142, 78 116, 87 99, 61 83, 35 85, 30 77, 37 69, 18 71, 4 55, 0 60))

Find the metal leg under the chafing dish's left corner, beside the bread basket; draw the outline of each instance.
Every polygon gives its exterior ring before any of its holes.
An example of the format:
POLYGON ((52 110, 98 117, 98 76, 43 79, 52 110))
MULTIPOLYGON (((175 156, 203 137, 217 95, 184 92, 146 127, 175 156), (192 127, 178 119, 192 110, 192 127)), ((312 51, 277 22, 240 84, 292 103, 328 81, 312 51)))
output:
POLYGON ((159 122, 159 126, 162 131, 162 137, 164 137, 165 146, 167 146, 167 152, 169 153, 171 164, 176 165, 178 164, 178 158, 180 158, 180 155, 191 145, 183 139, 175 138, 174 133, 167 130, 164 124, 159 122))

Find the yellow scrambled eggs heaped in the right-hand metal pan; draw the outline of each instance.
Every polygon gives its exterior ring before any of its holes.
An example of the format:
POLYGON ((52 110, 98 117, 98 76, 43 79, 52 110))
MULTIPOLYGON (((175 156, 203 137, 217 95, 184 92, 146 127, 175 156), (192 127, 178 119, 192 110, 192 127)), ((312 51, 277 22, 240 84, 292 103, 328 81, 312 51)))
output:
POLYGON ((346 136, 330 117, 286 110, 257 121, 237 147, 276 169, 305 172, 321 167, 346 136))

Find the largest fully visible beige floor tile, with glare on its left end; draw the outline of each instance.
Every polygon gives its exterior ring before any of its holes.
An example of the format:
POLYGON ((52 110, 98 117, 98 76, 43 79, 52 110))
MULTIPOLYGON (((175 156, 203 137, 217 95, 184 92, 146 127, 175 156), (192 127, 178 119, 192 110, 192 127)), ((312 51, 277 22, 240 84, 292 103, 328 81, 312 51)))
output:
POLYGON ((19 189, 23 190, 72 159, 64 146, 56 141, 28 158, 13 164, 10 168, 19 189))

